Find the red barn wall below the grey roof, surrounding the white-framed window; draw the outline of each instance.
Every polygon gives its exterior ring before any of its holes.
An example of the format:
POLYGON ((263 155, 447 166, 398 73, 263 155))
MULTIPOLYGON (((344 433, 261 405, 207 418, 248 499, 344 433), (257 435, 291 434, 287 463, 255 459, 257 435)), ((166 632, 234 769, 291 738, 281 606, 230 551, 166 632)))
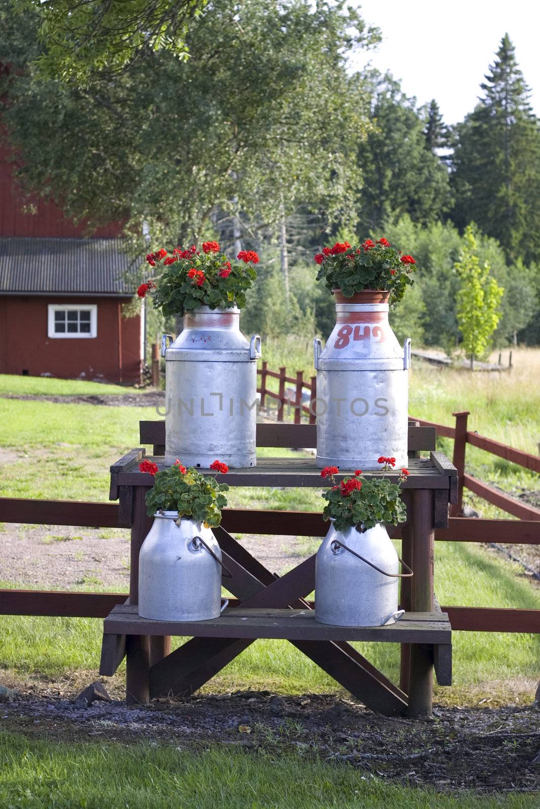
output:
POLYGON ((121 317, 122 299, 0 295, 0 373, 64 379, 103 375, 134 384, 141 367, 141 319, 121 317), (49 303, 97 304, 97 337, 49 338, 49 303), (119 332, 120 330, 120 332, 119 332))

